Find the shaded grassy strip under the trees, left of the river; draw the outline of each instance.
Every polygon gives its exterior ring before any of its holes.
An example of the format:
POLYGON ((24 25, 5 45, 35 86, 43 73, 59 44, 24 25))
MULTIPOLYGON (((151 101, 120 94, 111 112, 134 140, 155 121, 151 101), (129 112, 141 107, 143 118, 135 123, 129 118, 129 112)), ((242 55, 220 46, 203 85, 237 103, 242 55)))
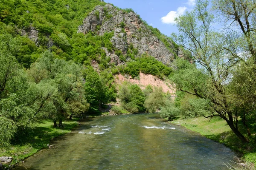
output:
POLYGON ((70 133, 71 129, 77 125, 76 121, 76 119, 64 121, 65 127, 62 128, 54 128, 52 121, 37 123, 28 135, 22 136, 8 148, 0 148, 0 156, 11 156, 13 158, 11 164, 17 164, 39 150, 47 148, 47 144, 50 144, 53 138, 70 133))

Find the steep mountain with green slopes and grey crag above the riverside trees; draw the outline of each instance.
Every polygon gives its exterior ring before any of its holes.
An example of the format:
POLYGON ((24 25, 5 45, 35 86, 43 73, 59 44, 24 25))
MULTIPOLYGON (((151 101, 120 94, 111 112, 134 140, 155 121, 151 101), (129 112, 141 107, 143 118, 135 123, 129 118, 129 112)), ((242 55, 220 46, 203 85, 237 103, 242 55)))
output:
POLYGON ((166 65, 176 57, 189 58, 132 9, 100 0, 3 0, 0 11, 0 34, 20 40, 15 57, 26 68, 47 49, 57 58, 81 64, 94 60, 105 65, 102 69, 144 54, 166 65))

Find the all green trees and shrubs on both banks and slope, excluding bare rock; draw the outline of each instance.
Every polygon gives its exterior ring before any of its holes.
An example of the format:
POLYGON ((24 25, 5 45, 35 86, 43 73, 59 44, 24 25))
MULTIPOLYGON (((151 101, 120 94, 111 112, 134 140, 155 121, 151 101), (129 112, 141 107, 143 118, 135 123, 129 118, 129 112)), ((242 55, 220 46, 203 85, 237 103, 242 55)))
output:
POLYGON ((172 40, 189 53, 191 59, 175 56, 172 65, 146 53, 139 56, 132 44, 122 54, 110 41, 113 31, 77 33, 93 8, 105 4, 0 2, 0 147, 22 141, 42 120, 62 128, 66 119, 99 115, 106 104, 119 100, 112 113, 158 111, 168 121, 218 117, 237 136, 240 151, 250 153, 256 163, 256 3, 213 0, 209 6, 208 0, 197 0, 194 10, 175 19, 179 33, 167 39, 144 22, 167 48, 172 40), (34 40, 26 33, 33 29, 38 31, 34 40), (114 51, 123 64, 111 62, 102 48, 114 51), (172 82, 175 99, 160 87, 142 90, 137 84, 115 82, 118 74, 140 79, 140 72, 172 82))

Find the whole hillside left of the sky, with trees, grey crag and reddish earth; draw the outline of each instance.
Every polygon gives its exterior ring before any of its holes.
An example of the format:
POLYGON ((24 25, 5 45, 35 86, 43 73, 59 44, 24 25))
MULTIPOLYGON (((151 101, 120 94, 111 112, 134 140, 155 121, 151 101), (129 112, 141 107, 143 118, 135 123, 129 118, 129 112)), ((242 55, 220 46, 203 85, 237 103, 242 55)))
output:
POLYGON ((159 110, 185 54, 131 9, 100 0, 1 1, 0 147, 22 143, 39 120, 62 127, 111 102, 118 114, 159 110))

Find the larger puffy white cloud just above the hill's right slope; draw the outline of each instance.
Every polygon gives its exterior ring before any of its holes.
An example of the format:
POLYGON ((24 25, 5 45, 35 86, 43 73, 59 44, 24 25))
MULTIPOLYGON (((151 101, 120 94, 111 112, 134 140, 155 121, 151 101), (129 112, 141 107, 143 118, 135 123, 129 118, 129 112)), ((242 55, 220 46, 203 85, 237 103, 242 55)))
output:
MULTIPOLYGON (((191 1, 191 0, 189 0, 191 1)), ((180 15, 184 14, 186 11, 187 7, 179 7, 177 8, 177 11, 170 11, 166 16, 161 18, 162 23, 164 24, 174 24, 175 17, 179 17, 180 15)))

